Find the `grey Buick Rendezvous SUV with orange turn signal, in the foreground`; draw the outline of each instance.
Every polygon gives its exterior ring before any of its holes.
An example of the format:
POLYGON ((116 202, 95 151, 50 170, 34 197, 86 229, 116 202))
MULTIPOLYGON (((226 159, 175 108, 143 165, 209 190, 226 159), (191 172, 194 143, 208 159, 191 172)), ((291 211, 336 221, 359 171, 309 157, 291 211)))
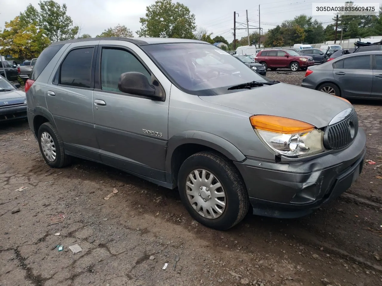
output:
POLYGON ((363 166, 366 137, 349 102, 269 80, 206 42, 53 43, 26 90, 49 166, 81 157, 177 188, 191 216, 219 230, 250 206, 309 214, 363 166))

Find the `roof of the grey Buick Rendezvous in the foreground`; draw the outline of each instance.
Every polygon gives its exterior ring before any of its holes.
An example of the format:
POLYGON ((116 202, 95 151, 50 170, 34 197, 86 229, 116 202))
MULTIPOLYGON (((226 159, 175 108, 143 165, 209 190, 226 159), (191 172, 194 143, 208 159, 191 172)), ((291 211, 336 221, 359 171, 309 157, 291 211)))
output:
POLYGON ((151 44, 164 44, 164 43, 204 43, 206 42, 191 39, 175 39, 175 38, 122 38, 122 37, 106 37, 106 38, 87 38, 87 39, 73 39, 61 42, 54 42, 51 45, 61 45, 66 43, 90 42, 100 40, 113 40, 113 41, 126 41, 134 43, 138 46, 151 45, 151 44))

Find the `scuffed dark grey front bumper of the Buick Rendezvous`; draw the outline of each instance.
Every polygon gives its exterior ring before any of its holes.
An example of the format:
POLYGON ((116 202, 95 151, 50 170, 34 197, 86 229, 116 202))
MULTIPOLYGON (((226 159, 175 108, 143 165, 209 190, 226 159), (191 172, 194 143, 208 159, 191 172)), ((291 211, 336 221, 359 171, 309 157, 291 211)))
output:
POLYGON ((246 184, 253 213, 278 218, 311 213, 350 188, 362 171, 366 136, 337 153, 304 162, 235 162, 246 184))

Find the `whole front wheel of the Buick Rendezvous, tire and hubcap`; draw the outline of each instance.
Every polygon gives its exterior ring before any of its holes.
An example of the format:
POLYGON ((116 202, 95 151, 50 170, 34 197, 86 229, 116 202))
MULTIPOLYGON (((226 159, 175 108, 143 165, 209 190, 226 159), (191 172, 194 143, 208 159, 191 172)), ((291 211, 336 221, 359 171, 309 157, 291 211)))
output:
POLYGON ((212 152, 196 153, 183 162, 178 190, 189 214, 216 230, 233 227, 248 213, 243 179, 231 162, 212 152))

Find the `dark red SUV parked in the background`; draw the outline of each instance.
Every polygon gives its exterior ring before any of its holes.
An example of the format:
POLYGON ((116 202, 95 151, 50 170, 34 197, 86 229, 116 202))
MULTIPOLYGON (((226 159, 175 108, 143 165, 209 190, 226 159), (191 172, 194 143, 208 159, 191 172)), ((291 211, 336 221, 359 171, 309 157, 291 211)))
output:
POLYGON ((290 68, 291 71, 307 69, 314 64, 310 56, 301 56, 293 50, 262 50, 255 57, 256 61, 261 63, 265 70, 268 68, 275 71, 277 68, 290 68))

